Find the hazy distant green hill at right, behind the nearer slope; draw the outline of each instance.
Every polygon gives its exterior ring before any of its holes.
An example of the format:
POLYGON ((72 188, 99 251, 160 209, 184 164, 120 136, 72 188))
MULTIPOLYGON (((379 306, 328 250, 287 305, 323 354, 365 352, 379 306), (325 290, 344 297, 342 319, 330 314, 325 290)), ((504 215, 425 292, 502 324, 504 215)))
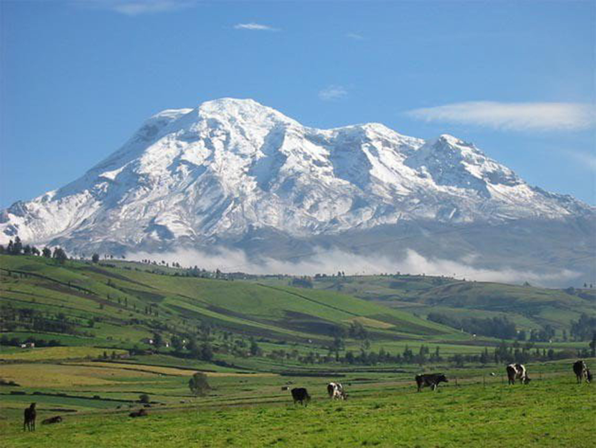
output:
MULTIPOLYGON (((266 282, 280 285, 288 280, 266 282)), ((596 316, 595 289, 546 289, 412 275, 328 276, 313 279, 312 285, 420 316, 430 311, 455 317, 507 316, 520 329, 551 325, 558 335, 563 329, 569 331, 571 321, 582 313, 596 316)))

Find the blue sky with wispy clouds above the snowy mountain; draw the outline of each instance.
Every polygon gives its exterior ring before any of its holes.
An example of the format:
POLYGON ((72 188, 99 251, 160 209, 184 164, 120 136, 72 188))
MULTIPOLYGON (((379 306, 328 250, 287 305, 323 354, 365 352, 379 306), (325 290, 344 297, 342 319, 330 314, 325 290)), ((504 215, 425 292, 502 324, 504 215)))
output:
POLYGON ((219 97, 454 134, 594 205, 595 23, 592 1, 0 0, 0 207, 219 97))

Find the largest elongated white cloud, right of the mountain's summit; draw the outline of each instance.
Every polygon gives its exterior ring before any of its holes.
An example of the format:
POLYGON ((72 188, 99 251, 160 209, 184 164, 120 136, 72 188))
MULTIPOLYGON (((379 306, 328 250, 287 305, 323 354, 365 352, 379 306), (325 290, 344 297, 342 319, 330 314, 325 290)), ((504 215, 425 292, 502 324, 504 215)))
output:
POLYGON ((595 109, 582 103, 499 103, 470 101, 407 112, 426 121, 442 121, 514 131, 573 130, 594 125, 595 109))

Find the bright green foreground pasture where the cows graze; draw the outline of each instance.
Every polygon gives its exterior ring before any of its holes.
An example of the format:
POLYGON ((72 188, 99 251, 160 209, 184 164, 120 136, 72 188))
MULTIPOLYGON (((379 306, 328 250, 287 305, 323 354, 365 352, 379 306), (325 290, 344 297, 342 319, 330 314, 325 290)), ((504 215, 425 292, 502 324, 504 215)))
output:
MULTIPOLYGON (((129 418, 128 407, 96 409, 62 414, 63 423, 38 424, 35 433, 26 433, 20 415, 11 412, 2 415, 0 444, 15 448, 593 446, 594 385, 575 384, 568 363, 529 366, 529 371, 535 381, 514 386, 502 384, 498 377, 467 376, 479 375, 472 370, 459 372, 455 385, 457 372, 451 372, 451 382, 436 393, 417 393, 411 377, 408 381, 400 375, 370 381, 344 378, 343 384, 350 384, 346 401, 328 400, 327 379, 298 379, 311 392, 308 407, 291 404, 288 392, 280 390, 284 378, 252 378, 246 383, 226 378, 228 382, 219 383, 209 397, 189 398, 190 403, 177 406, 154 405, 144 418, 129 418), (539 369, 544 371, 540 376, 539 369)), ((40 405, 39 418, 56 415, 40 405)))

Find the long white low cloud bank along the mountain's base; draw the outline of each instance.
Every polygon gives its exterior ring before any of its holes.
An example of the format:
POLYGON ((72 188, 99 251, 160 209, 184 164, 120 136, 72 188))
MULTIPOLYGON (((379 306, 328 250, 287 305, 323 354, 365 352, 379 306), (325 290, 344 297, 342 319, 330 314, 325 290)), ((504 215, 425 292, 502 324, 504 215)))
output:
POLYGON ((317 273, 333 274, 343 271, 346 275, 381 274, 381 273, 409 273, 426 274, 430 276, 454 276, 458 279, 479 280, 484 282, 523 283, 533 285, 561 284, 567 280, 579 277, 579 273, 570 270, 559 270, 555 273, 540 273, 532 270, 504 268, 491 270, 474 267, 474 257, 460 260, 440 258, 425 258, 418 252, 408 249, 403 259, 391 259, 378 255, 357 255, 334 249, 321 250, 292 259, 275 259, 263 257, 257 260, 249 259, 240 250, 219 248, 213 254, 179 249, 166 254, 135 252, 127 254, 128 259, 140 261, 151 259, 157 262, 166 261, 170 264, 178 262, 183 267, 197 266, 207 270, 219 269, 222 272, 245 272, 249 274, 291 274, 309 275, 317 273))

